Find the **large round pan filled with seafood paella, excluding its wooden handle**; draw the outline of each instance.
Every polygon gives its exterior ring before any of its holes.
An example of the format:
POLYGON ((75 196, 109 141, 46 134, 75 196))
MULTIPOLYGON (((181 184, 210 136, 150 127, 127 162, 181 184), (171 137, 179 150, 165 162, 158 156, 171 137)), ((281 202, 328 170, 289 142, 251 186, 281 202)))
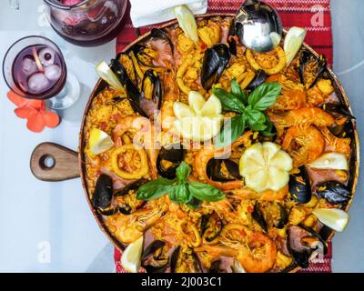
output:
POLYGON ((339 81, 308 45, 289 62, 284 40, 239 45, 232 19, 141 36, 86 106, 87 201, 130 271, 297 271, 348 222, 359 142, 339 81))

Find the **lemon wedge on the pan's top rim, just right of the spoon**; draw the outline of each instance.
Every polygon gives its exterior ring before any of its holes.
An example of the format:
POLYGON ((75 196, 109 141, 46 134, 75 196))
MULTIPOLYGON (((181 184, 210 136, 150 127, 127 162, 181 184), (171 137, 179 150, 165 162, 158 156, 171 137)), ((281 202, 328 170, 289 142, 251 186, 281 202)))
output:
POLYGON ((293 26, 288 30, 285 38, 283 49, 286 52, 287 66, 292 63, 298 53, 299 48, 303 44, 306 36, 306 29, 293 26))

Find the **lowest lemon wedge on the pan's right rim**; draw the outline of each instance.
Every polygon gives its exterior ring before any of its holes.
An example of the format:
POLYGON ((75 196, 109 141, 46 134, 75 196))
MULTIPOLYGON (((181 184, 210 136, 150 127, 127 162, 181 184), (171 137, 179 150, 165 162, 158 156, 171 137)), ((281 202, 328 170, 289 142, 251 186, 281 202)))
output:
POLYGON ((349 214, 341 209, 319 208, 314 209, 312 213, 319 218, 325 226, 329 226, 335 231, 342 232, 349 222, 349 214))

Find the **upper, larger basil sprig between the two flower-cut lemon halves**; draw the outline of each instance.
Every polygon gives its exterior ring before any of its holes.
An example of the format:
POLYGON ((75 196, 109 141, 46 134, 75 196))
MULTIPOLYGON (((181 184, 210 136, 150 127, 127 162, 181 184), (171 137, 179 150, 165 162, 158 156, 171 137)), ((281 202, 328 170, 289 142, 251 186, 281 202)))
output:
POLYGON ((230 145, 244 133, 246 127, 265 136, 275 135, 273 124, 264 111, 276 103, 281 89, 282 86, 278 83, 264 83, 247 97, 235 79, 231 81, 231 92, 217 87, 212 88, 212 92, 220 100, 225 111, 238 113, 217 135, 216 146, 230 145))

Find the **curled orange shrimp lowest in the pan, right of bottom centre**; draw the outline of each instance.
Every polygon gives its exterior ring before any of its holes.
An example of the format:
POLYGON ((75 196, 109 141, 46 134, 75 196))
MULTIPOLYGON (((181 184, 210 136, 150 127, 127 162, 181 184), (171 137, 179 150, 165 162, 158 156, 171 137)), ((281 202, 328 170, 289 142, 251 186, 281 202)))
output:
POLYGON ((233 256, 248 273, 267 272, 276 262, 277 246, 261 233, 247 234, 243 242, 231 241, 228 245, 200 246, 195 251, 207 251, 213 256, 233 256))

